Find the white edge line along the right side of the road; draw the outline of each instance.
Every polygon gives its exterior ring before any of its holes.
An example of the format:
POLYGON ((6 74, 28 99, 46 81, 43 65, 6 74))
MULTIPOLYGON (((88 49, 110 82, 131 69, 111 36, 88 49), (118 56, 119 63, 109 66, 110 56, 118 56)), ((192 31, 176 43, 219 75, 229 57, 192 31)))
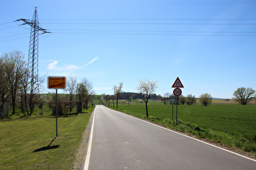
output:
MULTIPOLYGON (((111 109, 111 108, 109 108, 109 109, 111 109)), ((121 112, 116 111, 116 110, 115 110, 115 112, 121 113, 121 112)), ((124 114, 125 116, 128 116, 128 117, 132 117, 131 115, 128 115, 128 114, 126 114, 126 113, 122 113, 122 114, 124 114)), ((137 117, 132 117, 132 118, 135 118, 135 119, 137 119, 137 120, 139 120, 139 121, 144 121, 144 120, 139 119, 139 118, 137 118, 137 117)), ((168 130, 168 131, 171 131, 172 133, 180 134, 179 132, 176 132, 176 131, 174 131, 174 130, 169 130, 169 129, 167 129, 167 128, 165 128, 165 127, 162 127, 162 126, 160 126, 160 125, 155 125, 154 123, 151 123, 151 122, 149 122, 149 121, 144 121, 144 122, 145 122, 145 123, 148 123, 148 124, 150 124, 150 125, 157 126, 158 128, 162 128, 163 130, 168 130)), ((193 140, 195 140, 195 141, 197 141, 197 142, 202 142, 202 143, 204 143, 204 144, 206 144, 206 145, 209 145, 209 146, 211 146, 211 147, 215 147, 215 148, 218 148, 218 149, 220 149, 220 150, 227 151, 227 152, 232 153, 232 154, 234 154, 234 155, 238 155, 238 156, 241 156, 242 158, 249 159, 249 160, 252 160, 252 161, 256 162, 256 159, 252 159, 252 158, 249 158, 249 157, 247 157, 247 156, 245 156, 245 155, 238 154, 238 153, 236 153, 236 152, 234 152, 234 151, 229 151, 229 150, 224 149, 224 148, 222 148, 222 147, 215 146, 215 145, 213 145, 213 144, 210 144, 210 143, 208 143, 208 142, 204 142, 204 141, 202 141, 202 140, 199 140, 199 139, 197 139, 197 138, 193 138, 193 137, 188 136, 188 135, 185 135, 185 134, 180 134, 180 135, 181 135, 181 136, 184 136, 184 137, 186 137, 186 138, 191 138, 191 139, 193 139, 193 140)))

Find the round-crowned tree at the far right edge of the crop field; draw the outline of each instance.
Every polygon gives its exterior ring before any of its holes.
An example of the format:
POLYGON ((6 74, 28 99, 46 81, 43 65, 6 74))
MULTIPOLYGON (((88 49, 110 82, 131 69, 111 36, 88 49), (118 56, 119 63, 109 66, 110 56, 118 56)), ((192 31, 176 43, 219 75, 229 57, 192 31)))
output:
POLYGON ((236 91, 234 91, 233 96, 236 97, 236 100, 239 101, 241 104, 246 105, 248 100, 252 100, 252 97, 255 93, 255 91, 252 88, 245 88, 240 87, 237 88, 236 91))

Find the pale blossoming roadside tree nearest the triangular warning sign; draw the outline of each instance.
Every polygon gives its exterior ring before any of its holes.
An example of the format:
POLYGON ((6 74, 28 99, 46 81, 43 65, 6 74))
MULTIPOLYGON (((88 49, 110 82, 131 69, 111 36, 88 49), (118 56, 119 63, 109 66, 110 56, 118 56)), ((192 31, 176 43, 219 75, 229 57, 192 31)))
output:
POLYGON ((137 90, 143 96, 143 101, 145 102, 145 113, 146 117, 149 117, 148 113, 148 101, 150 99, 150 95, 154 93, 155 89, 157 88, 157 82, 150 81, 148 79, 139 80, 137 90))

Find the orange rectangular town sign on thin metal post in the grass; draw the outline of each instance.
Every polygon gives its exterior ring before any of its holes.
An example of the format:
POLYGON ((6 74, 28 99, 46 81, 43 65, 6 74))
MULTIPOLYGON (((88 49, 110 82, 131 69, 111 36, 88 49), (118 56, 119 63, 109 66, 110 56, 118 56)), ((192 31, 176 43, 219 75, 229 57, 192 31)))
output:
POLYGON ((66 77, 48 77, 48 88, 56 89, 56 137, 58 136, 58 89, 66 87, 66 77))

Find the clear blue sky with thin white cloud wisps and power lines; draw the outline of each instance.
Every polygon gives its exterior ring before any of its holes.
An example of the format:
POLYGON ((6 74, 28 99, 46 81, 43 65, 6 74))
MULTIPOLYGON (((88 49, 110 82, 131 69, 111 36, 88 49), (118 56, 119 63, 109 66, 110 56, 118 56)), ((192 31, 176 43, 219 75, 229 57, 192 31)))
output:
POLYGON ((0 1, 0 54, 18 49, 28 58, 37 6, 42 28, 39 74, 87 78, 96 94, 137 92, 139 79, 172 93, 180 78, 184 96, 232 98, 238 87, 256 90, 256 1, 0 1))

